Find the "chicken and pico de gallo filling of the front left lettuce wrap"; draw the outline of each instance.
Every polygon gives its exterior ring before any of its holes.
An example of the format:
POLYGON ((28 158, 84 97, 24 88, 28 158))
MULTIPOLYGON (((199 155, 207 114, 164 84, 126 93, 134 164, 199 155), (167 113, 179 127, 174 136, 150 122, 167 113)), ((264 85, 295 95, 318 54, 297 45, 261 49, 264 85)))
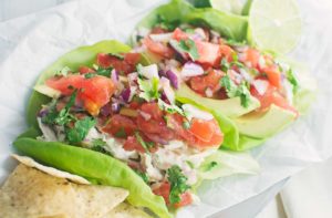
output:
POLYGON ((40 139, 111 155, 168 206, 190 205, 198 167, 224 134, 210 113, 176 102, 174 80, 139 59, 139 53, 98 53, 95 64, 65 68, 48 79, 39 90, 56 97, 38 114, 40 139))

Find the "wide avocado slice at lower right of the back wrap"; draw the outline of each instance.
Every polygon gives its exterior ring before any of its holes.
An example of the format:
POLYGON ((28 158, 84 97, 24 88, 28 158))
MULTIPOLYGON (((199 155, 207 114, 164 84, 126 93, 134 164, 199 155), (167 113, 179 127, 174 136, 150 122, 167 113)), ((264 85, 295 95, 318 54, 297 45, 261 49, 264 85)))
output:
POLYGON ((235 118, 234 122, 240 134, 256 138, 266 138, 274 135, 295 118, 295 113, 272 104, 264 113, 252 112, 235 118))

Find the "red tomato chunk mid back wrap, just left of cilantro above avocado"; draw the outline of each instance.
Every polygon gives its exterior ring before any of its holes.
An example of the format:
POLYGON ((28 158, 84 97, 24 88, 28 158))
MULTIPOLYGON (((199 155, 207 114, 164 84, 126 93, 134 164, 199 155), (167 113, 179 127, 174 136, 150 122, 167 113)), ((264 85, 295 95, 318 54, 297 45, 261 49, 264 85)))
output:
POLYGON ((203 95, 208 87, 215 93, 220 90, 220 79, 224 74, 222 71, 210 69, 206 75, 191 77, 190 87, 203 95))

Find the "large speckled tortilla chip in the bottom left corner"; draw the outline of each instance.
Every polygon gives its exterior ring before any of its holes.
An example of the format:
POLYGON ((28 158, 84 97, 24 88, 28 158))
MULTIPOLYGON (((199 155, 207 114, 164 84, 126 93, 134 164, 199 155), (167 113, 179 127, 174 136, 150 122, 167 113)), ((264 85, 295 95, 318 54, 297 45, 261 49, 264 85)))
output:
POLYGON ((3 218, 101 218, 128 195, 122 188, 77 185, 20 164, 0 189, 3 218))

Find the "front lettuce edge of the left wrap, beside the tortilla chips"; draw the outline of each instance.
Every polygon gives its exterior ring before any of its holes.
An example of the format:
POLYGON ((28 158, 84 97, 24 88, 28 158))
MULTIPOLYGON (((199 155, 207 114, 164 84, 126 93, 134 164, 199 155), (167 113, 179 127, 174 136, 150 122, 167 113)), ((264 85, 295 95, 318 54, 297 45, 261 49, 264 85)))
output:
POLYGON ((149 208, 160 218, 172 217, 164 199, 152 193, 144 180, 128 166, 107 155, 58 142, 42 142, 21 137, 14 147, 35 160, 83 176, 101 185, 129 190, 128 203, 149 208))

